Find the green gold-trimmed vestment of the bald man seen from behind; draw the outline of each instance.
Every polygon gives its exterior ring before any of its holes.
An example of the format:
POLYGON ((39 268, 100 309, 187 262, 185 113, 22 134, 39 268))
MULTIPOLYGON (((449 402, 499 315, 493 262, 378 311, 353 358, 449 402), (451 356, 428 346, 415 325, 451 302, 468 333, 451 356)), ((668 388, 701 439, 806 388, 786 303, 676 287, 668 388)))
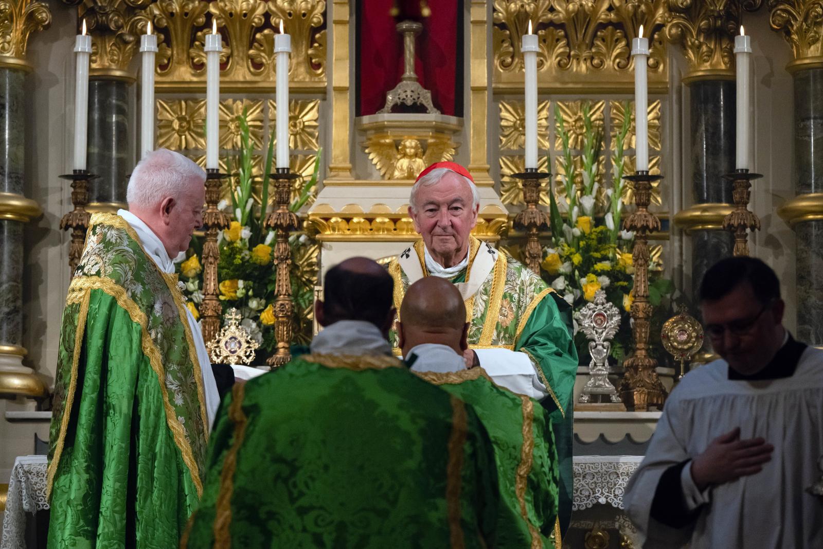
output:
POLYGON ((471 405, 489 432, 500 486, 497 546, 556 547, 557 454, 548 413, 495 385, 482 368, 415 374, 471 405))

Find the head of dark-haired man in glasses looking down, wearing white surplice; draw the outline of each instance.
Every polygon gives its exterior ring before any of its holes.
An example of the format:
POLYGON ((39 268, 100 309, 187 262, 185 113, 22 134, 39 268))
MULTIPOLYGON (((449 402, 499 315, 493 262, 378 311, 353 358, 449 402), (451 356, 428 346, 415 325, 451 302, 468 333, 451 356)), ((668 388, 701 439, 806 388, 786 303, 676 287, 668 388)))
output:
POLYGON ((747 282, 700 308, 714 351, 742 375, 762 370, 782 344, 783 300, 764 305, 747 282))

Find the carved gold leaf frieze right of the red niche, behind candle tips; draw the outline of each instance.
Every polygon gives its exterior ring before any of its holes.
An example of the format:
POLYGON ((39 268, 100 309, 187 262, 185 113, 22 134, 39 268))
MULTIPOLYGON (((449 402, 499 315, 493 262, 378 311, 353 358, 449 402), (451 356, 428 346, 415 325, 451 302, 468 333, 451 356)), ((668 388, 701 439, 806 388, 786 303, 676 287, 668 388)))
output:
POLYGON ((495 0, 495 88, 523 86, 520 41, 536 23, 537 78, 548 91, 625 91, 634 86, 631 39, 651 36, 649 86, 667 87, 663 24, 667 0, 495 0), (649 32, 649 30, 651 32, 649 32), (574 78, 570 78, 570 73, 574 78), (584 76, 585 78, 581 78, 584 76))

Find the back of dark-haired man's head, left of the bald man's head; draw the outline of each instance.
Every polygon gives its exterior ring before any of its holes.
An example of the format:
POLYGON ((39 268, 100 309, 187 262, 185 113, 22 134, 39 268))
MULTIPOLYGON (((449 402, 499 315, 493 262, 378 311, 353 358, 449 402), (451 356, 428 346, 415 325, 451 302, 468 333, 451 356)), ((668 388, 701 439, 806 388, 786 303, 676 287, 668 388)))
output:
POLYGON ((314 305, 321 326, 340 320, 373 323, 388 335, 394 320, 394 281, 369 258, 349 258, 330 268, 323 282, 323 301, 314 305))

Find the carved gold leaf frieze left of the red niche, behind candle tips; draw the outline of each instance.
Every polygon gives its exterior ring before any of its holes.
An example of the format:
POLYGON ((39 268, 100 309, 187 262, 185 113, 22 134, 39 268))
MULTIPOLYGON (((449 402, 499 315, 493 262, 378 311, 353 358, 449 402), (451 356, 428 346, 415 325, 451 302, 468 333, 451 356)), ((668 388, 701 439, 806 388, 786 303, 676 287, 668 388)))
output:
POLYGON ((210 23, 212 18, 226 44, 221 54, 222 91, 272 88, 274 29, 280 21, 291 35, 289 80, 297 84, 295 89, 325 87, 326 2, 322 0, 159 0, 149 10, 158 32, 168 39, 160 44, 158 55, 161 91, 205 86, 202 41, 209 31, 207 19, 210 23))

